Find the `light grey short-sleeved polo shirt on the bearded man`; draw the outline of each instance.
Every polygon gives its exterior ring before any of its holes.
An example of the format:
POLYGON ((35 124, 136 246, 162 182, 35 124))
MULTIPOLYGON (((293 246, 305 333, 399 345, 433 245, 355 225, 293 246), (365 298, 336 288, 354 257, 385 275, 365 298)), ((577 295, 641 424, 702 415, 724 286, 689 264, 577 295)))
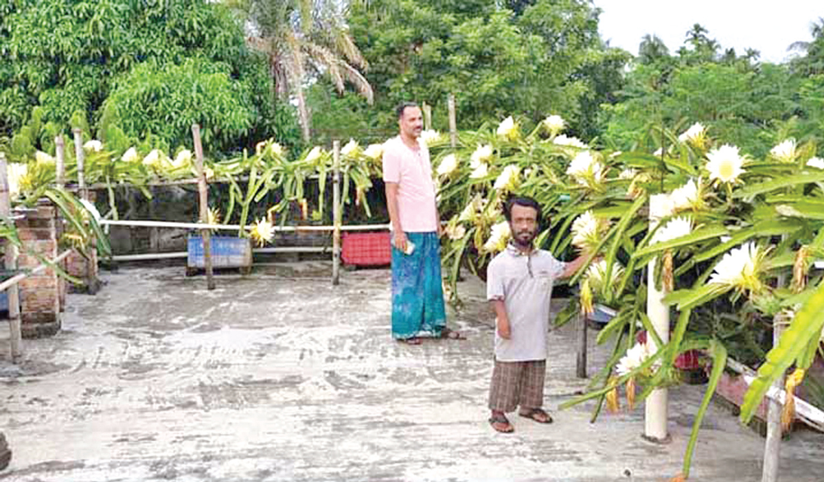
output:
POLYGON ((510 339, 503 339, 495 330, 495 359, 499 362, 546 359, 552 285, 565 266, 549 251, 532 250, 523 255, 512 245, 489 263, 486 298, 503 300, 511 332, 510 339))

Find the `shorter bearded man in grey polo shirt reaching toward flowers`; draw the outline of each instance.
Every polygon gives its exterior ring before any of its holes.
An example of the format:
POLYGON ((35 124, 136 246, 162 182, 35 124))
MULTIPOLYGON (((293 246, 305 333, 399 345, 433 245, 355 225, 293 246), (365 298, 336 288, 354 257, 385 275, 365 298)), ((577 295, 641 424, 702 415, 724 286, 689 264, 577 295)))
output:
POLYGON ((509 199, 505 208, 513 239, 487 268, 486 297, 495 311, 495 365, 489 389, 489 424, 503 433, 514 431, 506 412, 541 424, 552 422, 544 405, 546 334, 550 298, 557 278, 581 268, 585 256, 564 263, 533 246, 541 222, 541 206, 531 198, 509 199))

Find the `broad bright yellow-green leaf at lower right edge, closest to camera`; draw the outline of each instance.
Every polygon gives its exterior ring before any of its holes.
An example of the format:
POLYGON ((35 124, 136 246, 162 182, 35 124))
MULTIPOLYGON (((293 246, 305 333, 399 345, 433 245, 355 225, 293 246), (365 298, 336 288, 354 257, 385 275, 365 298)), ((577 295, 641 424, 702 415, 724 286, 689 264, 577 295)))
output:
POLYGON ((778 345, 767 353, 766 361, 758 368, 756 379, 744 394, 741 405, 742 423, 748 424, 756 408, 770 386, 784 376, 784 372, 807 349, 813 337, 821 336, 824 325, 824 283, 818 288, 795 315, 789 328, 781 335, 778 345))

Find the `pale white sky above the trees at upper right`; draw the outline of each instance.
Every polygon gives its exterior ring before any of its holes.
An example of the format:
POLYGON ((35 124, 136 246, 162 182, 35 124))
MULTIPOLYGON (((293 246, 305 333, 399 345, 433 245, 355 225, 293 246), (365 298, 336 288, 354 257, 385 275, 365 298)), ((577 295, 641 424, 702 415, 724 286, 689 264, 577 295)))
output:
POLYGON ((761 61, 779 63, 797 40, 812 40, 810 26, 824 17, 822 0, 594 0, 602 13, 598 30, 613 47, 638 54, 644 34, 654 34, 670 53, 681 47, 686 31, 700 23, 706 34, 741 55, 750 47, 761 51, 761 61))

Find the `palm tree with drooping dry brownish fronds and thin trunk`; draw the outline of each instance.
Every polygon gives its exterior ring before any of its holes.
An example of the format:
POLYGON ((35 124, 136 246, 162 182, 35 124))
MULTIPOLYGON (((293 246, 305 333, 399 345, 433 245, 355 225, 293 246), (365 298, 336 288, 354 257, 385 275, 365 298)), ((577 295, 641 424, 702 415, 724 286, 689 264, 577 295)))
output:
POLYGON ((366 59, 349 35, 344 2, 335 0, 224 0, 245 16, 247 41, 269 59, 276 95, 293 96, 303 140, 311 112, 304 89, 320 75, 344 91, 346 82, 372 103, 372 86, 360 73, 366 59), (360 69, 360 70, 358 70, 360 69))

